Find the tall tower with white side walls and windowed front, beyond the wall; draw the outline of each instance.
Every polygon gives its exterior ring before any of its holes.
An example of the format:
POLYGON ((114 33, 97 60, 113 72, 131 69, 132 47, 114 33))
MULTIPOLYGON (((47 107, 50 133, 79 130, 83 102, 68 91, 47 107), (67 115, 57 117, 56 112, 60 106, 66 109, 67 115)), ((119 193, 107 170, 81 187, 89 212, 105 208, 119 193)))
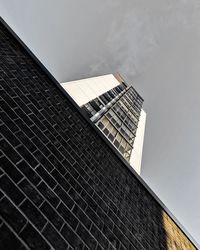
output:
POLYGON ((146 113, 136 90, 119 74, 61 85, 140 174, 146 113))

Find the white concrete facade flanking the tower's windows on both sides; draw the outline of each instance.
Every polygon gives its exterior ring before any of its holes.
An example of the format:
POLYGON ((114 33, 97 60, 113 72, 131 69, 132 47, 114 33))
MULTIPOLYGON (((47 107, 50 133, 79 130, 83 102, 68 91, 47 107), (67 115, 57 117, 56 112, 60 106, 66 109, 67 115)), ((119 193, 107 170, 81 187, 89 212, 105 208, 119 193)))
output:
MULTIPOLYGON (((61 83, 61 86, 81 107, 110 89, 120 85, 121 82, 113 74, 91 77, 82 80, 61 83)), ((136 138, 130 157, 130 165, 140 174, 142 163, 143 141, 146 123, 146 113, 142 109, 136 131, 136 138)))

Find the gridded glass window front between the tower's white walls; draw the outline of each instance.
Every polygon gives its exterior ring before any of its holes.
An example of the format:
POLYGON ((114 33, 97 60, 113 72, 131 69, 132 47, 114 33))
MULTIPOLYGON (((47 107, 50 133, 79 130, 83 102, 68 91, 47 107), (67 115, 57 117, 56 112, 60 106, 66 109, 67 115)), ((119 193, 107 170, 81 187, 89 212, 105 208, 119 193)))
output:
POLYGON ((82 106, 90 119, 129 161, 143 99, 131 87, 120 84, 82 106))

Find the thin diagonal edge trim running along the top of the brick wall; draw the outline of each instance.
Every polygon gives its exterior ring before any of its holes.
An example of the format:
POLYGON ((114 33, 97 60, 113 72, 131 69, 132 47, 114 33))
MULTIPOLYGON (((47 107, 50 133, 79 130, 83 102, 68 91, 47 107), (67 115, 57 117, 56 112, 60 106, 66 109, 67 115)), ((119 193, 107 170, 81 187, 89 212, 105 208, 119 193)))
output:
POLYGON ((4 21, 4 19, 1 16, 0 16, 0 23, 2 23, 4 27, 7 28, 7 30, 13 35, 13 37, 26 50, 29 56, 38 64, 38 66, 47 74, 49 79, 56 85, 56 87, 68 99, 68 101, 77 109, 79 114, 95 130, 95 132, 108 145, 108 147, 118 156, 119 160, 122 161, 122 163, 128 168, 128 170, 137 178, 137 180, 145 187, 145 189, 150 193, 150 195, 155 199, 155 201, 169 215, 169 217, 174 221, 174 223, 178 226, 178 228, 185 234, 185 236, 189 239, 189 241, 191 241, 191 243, 197 249, 200 249, 200 245, 190 235, 190 233, 185 229, 185 227, 177 220, 177 218, 172 214, 172 212, 167 208, 167 206, 159 199, 159 197, 153 192, 153 190, 147 185, 147 183, 129 165, 129 163, 123 158, 123 156, 118 152, 118 150, 110 143, 110 141, 101 133, 101 131, 94 125, 94 123, 90 121, 90 119, 85 115, 82 109, 76 104, 76 102, 71 98, 71 96, 63 89, 60 83, 54 78, 54 76, 47 70, 47 68, 40 62, 40 60, 33 54, 33 52, 26 46, 26 44, 18 37, 18 35, 12 30, 12 28, 4 21))

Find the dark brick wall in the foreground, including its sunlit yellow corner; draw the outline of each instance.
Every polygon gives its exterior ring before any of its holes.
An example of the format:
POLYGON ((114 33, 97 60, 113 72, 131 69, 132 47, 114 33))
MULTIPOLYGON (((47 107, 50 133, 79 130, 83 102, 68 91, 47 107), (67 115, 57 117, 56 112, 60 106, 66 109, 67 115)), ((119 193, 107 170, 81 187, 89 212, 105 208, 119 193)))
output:
POLYGON ((2 24, 0 93, 0 249, 195 249, 2 24))

